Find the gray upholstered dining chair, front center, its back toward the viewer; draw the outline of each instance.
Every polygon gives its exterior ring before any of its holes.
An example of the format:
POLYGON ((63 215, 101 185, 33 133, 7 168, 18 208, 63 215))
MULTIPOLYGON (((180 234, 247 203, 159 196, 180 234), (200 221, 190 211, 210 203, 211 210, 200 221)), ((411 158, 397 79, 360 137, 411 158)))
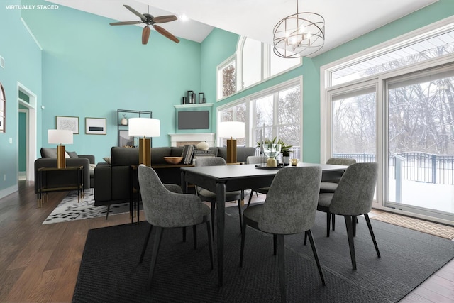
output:
POLYGON ((320 181, 321 167, 282 168, 272 181, 265 203, 252 205, 243 212, 240 266, 243 266, 246 226, 265 233, 272 233, 275 253, 277 246, 277 264, 279 266, 282 302, 285 302, 287 297, 284 235, 305 233, 306 236, 309 236, 321 282, 325 285, 314 238, 311 233, 311 227, 315 221, 320 181))

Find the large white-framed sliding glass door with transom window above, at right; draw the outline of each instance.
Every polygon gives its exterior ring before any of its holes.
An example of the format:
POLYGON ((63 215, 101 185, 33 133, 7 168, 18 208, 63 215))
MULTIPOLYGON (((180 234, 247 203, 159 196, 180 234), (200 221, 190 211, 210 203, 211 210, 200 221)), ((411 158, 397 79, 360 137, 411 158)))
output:
POLYGON ((321 70, 327 80, 321 97, 321 160, 379 162, 375 207, 451 224, 453 20, 321 70))

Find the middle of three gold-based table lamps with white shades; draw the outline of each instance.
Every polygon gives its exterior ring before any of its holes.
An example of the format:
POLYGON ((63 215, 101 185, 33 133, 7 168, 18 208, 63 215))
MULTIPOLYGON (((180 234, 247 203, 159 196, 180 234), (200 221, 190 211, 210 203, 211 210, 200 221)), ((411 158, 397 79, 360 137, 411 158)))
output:
POLYGON ((130 118, 128 123, 129 136, 140 137, 139 164, 151 166, 151 141, 149 138, 160 136, 160 121, 153 118, 130 118))

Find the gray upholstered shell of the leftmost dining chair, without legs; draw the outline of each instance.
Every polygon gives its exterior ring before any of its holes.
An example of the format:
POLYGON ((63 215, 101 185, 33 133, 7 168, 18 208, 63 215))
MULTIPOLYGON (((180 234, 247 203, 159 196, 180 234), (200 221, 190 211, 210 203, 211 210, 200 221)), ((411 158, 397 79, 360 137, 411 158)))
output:
POLYGON ((143 211, 148 223, 165 228, 200 224, 202 204, 195 194, 170 192, 162 184, 155 170, 145 165, 138 167, 143 211))

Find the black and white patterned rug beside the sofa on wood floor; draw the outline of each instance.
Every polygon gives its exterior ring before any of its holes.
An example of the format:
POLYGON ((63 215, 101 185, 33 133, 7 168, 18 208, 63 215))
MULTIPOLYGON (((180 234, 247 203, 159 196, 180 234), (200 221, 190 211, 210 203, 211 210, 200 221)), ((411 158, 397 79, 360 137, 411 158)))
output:
MULTIPOLYGON (((77 202, 77 191, 72 191, 62 199, 62 202, 55 207, 43 224, 60 223, 74 220, 97 218, 106 216, 107 206, 94 206, 94 191, 84 191, 84 201, 77 202)), ((109 216, 129 212, 129 204, 112 204, 109 209, 109 216)))

